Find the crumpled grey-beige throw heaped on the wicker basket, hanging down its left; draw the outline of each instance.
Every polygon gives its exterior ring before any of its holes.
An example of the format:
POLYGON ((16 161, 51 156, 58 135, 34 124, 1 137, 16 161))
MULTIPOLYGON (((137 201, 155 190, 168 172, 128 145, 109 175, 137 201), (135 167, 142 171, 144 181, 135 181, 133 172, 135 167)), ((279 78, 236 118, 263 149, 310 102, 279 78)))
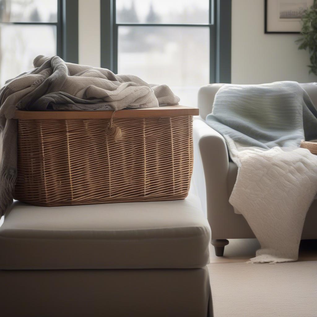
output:
POLYGON ((177 105, 166 85, 148 84, 137 76, 65 63, 60 57, 37 56, 34 69, 6 82, 0 90, 0 216, 12 203, 17 176, 16 109, 121 110, 177 105))

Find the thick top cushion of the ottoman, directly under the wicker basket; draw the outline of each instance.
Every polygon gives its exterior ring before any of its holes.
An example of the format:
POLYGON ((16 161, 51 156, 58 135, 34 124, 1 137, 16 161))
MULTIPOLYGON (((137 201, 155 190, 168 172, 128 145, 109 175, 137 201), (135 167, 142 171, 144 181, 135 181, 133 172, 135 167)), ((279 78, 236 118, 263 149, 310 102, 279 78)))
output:
POLYGON ((65 207, 15 202, 0 227, 0 269, 201 268, 209 242, 193 195, 65 207))

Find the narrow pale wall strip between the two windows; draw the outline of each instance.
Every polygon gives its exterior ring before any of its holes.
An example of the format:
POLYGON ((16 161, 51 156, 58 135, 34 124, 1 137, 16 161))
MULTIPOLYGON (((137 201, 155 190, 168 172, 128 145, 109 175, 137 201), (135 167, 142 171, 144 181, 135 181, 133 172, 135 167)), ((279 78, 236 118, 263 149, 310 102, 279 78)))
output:
POLYGON ((100 67, 100 0, 78 1, 79 64, 100 67))

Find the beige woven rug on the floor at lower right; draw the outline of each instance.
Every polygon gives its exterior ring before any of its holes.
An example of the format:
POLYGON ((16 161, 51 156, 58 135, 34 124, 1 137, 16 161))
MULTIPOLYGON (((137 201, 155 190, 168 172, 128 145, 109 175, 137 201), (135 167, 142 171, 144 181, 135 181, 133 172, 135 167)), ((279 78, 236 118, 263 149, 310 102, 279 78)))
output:
POLYGON ((208 268, 214 317, 317 317, 317 261, 208 268))

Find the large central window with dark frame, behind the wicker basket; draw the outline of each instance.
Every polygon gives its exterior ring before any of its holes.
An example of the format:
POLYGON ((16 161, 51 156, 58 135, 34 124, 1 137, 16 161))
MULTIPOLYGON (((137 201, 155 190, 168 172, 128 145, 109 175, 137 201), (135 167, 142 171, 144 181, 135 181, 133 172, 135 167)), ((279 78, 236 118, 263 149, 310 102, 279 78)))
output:
POLYGON ((167 84, 196 106, 199 87, 217 81, 215 13, 224 3, 231 11, 228 0, 101 0, 101 67, 167 84))

